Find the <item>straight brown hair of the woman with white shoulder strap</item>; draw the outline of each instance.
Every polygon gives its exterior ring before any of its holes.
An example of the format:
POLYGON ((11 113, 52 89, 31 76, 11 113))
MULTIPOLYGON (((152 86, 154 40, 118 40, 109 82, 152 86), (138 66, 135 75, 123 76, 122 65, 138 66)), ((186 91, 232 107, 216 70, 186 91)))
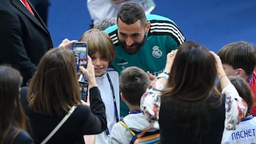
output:
POLYGON ((49 50, 41 58, 28 88, 29 107, 46 116, 61 116, 80 103, 73 53, 49 50))

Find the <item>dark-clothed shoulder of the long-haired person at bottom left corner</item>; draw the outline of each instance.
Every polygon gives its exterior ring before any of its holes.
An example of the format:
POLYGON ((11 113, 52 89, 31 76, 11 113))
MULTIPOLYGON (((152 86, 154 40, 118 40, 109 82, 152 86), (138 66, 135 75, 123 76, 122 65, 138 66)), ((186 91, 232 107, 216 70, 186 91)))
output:
POLYGON ((26 131, 19 131, 18 135, 16 136, 14 143, 26 143, 26 144, 33 144, 33 138, 26 132, 26 131))

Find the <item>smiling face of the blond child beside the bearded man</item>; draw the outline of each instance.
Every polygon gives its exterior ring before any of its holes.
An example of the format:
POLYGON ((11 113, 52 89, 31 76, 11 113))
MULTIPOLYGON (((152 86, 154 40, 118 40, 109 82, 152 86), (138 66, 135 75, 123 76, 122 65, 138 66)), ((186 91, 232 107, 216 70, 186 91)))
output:
POLYGON ((92 58, 92 65, 95 67, 95 77, 100 77, 107 70, 109 65, 109 60, 107 58, 101 57, 99 52, 95 52, 95 54, 90 55, 92 58))

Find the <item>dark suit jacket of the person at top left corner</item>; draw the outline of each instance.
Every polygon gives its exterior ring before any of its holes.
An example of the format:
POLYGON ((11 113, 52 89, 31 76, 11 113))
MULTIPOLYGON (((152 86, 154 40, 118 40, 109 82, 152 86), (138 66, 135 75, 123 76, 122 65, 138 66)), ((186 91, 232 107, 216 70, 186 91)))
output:
POLYGON ((36 71, 41 57, 53 48, 45 23, 20 0, 0 1, 0 64, 10 64, 23 75, 23 85, 36 71))

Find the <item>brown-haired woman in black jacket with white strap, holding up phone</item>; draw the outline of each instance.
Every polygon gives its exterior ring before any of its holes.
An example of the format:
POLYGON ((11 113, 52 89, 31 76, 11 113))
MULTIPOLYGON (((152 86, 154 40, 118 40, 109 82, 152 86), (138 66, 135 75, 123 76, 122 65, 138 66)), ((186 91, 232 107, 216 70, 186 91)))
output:
POLYGON ((80 98, 73 52, 65 48, 46 52, 28 89, 21 89, 23 107, 35 143, 85 143, 83 135, 105 130, 105 106, 90 57, 87 68, 80 67, 80 70, 90 86, 90 107, 80 98))

